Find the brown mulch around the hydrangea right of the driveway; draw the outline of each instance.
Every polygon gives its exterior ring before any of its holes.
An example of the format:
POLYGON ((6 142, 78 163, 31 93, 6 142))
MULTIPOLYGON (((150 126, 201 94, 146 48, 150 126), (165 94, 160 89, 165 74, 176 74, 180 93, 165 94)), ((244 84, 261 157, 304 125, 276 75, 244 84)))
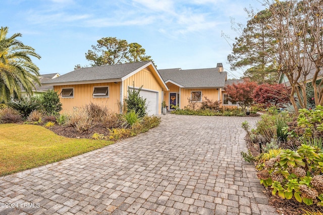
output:
MULTIPOLYGON (((246 143, 247 143, 247 147, 248 150, 250 150, 250 153, 253 156, 258 156, 260 154, 260 150, 259 150, 259 145, 258 144, 253 144, 250 141, 250 138, 248 136, 245 137, 246 143)), ((260 183, 260 181, 259 181, 260 183)), ((307 206, 304 203, 299 203, 298 201, 294 200, 294 199, 281 199, 279 196, 273 196, 271 194, 271 189, 269 188, 265 188, 266 192, 265 194, 268 197, 268 201, 269 203, 274 206, 277 210, 277 212, 279 212, 279 214, 284 214, 284 215, 299 215, 299 214, 303 214, 305 213, 304 210, 306 211, 319 211, 319 212, 323 212, 323 208, 317 206, 316 204, 307 206)))

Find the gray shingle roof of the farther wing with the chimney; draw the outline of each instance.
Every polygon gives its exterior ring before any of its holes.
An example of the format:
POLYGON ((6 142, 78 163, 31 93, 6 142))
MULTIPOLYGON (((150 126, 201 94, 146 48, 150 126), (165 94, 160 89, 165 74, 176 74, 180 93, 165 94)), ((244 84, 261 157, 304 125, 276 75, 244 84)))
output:
POLYGON ((219 73, 219 68, 201 69, 158 69, 164 81, 171 80, 185 88, 224 88, 226 71, 219 73))

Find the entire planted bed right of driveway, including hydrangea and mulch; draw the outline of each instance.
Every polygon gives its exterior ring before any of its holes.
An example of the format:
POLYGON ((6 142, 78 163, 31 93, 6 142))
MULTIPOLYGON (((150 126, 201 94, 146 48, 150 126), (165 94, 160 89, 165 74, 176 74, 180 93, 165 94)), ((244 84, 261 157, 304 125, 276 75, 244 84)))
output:
POLYGON ((249 153, 260 183, 280 213, 323 212, 323 107, 301 109, 299 115, 272 112, 261 116, 255 129, 247 122, 249 153))

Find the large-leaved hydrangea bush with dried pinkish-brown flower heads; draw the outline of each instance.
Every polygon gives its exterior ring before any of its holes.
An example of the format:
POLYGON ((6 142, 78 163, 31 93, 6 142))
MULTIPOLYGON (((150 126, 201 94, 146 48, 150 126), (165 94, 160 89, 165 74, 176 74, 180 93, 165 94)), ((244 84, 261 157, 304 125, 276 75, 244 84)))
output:
POLYGON ((258 163, 260 183, 272 188, 272 194, 281 198, 295 198, 298 202, 323 205, 323 152, 301 145, 297 151, 282 150, 269 160, 258 163))

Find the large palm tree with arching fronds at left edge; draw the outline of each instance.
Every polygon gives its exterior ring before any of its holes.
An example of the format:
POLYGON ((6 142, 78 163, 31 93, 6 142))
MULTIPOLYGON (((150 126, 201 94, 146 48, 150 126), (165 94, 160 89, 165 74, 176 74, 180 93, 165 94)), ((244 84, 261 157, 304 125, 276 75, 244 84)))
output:
POLYGON ((8 27, 0 29, 0 103, 7 103, 10 97, 20 98, 21 90, 32 95, 38 80, 39 68, 32 62, 31 56, 40 59, 35 49, 24 45, 16 33, 7 38, 8 27))

